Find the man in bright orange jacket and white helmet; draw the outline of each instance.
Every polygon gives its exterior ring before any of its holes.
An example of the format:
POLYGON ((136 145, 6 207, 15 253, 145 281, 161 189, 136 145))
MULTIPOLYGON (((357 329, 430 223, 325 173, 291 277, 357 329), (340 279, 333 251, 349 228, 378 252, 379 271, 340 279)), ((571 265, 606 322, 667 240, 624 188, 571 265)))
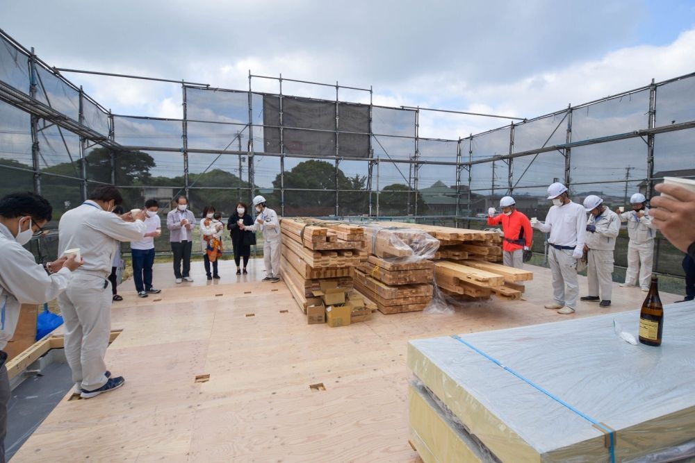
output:
POLYGON ((502 224, 502 230, 505 232, 504 244, 502 244, 504 264, 521 269, 523 251, 529 251, 533 242, 531 222, 525 214, 516 210, 516 201, 512 196, 500 199, 500 209, 502 214, 495 216, 495 208, 489 208, 487 224, 502 224))

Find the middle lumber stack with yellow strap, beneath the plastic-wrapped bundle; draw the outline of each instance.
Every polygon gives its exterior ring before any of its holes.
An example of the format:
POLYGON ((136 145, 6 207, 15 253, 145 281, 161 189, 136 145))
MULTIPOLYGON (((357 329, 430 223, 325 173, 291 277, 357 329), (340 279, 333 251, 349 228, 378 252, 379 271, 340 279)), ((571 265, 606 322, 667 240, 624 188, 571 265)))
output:
POLYGON ((370 255, 354 269, 354 287, 382 314, 416 312, 432 301, 434 262, 424 258, 384 259, 370 255))

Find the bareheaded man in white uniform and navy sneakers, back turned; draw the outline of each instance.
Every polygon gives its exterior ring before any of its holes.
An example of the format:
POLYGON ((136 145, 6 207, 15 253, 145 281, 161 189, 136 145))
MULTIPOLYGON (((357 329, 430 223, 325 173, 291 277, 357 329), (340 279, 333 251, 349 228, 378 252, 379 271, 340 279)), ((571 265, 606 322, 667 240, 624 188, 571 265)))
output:
POLYGON ((90 199, 69 210, 58 224, 58 253, 79 248, 85 264, 58 296, 65 320, 65 357, 75 390, 82 398, 121 387, 122 376, 111 378, 104 355, 111 335, 111 288, 107 280, 119 242, 142 241, 147 227, 145 211, 135 216, 112 214, 123 202, 116 187, 104 185, 90 199))

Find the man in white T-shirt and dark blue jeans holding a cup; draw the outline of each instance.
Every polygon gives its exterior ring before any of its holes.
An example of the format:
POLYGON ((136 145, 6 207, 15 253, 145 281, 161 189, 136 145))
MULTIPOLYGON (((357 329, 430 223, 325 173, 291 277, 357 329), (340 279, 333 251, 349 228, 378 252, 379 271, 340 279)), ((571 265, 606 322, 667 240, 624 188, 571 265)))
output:
MULTIPOLYGON (((132 212, 132 211, 131 211, 132 212)), ((145 239, 131 242, 133 257, 133 282, 138 297, 161 293, 152 286, 152 266, 154 265, 154 239, 162 235, 162 219, 157 214, 159 203, 156 199, 145 201, 145 239)))

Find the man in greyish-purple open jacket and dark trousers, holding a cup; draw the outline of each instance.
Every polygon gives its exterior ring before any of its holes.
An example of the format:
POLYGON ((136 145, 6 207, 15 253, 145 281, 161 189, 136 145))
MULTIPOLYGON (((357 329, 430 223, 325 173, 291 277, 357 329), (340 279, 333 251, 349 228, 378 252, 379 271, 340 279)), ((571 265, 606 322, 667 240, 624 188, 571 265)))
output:
POLYGON ((179 285, 183 281, 193 281, 193 278, 190 278, 190 252, 193 250, 195 216, 188 210, 188 198, 183 194, 177 196, 174 203, 176 208, 167 214, 167 228, 170 231, 169 241, 174 253, 174 278, 179 285))

